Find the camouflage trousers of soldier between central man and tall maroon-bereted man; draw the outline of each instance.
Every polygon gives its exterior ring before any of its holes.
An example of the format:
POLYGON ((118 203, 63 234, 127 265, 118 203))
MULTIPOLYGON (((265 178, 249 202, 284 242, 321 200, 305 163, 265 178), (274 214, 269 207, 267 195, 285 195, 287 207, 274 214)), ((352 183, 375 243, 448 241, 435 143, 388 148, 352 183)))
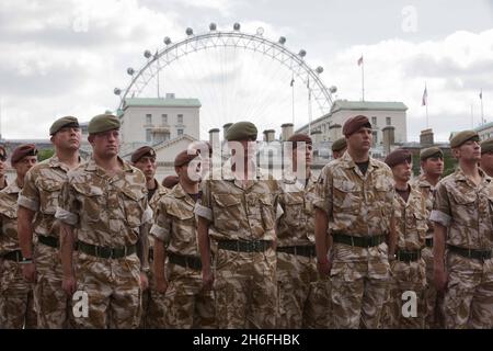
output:
POLYGON ((316 258, 277 252, 276 328, 332 327, 330 279, 321 278, 316 258))

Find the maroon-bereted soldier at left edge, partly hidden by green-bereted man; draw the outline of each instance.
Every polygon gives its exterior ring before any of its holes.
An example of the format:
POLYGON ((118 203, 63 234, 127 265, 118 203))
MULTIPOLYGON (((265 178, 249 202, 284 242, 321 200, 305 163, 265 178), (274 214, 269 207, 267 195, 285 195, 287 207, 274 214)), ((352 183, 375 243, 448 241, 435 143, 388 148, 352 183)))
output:
POLYGON ((32 329, 37 326, 33 285, 24 279, 18 238, 18 197, 25 173, 37 162, 34 145, 22 145, 12 152, 18 178, 0 192, 0 328, 32 329))

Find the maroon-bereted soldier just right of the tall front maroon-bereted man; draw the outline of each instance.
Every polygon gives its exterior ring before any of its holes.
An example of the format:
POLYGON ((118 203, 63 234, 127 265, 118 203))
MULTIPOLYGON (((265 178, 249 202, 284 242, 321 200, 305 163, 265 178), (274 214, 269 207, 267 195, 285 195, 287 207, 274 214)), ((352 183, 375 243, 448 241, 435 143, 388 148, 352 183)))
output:
MULTIPOLYGON (((389 299, 385 306, 386 328, 422 329, 424 327, 426 285, 425 261, 421 258, 425 245, 426 211, 425 197, 409 184, 411 179, 412 155, 404 149, 397 149, 386 158, 395 180, 394 216, 397 229, 395 257, 391 259, 389 299), (413 292, 416 297, 415 310, 405 309, 405 292, 413 292), (404 315, 405 313, 409 315, 404 315), (413 315, 414 312, 416 315, 413 315)), ((414 306, 411 306, 414 307, 414 306)))

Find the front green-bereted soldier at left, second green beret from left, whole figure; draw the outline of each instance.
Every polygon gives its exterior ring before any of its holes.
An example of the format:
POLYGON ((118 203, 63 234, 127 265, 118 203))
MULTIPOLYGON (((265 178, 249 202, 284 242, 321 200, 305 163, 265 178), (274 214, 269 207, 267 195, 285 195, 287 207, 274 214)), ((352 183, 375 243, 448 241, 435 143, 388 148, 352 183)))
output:
POLYGON ((64 290, 88 297, 89 315, 74 318, 80 328, 137 328, 141 292, 147 288, 145 224, 152 211, 145 176, 117 156, 118 129, 114 115, 98 115, 89 122, 93 156, 68 173, 56 213, 66 242, 61 247, 64 290), (78 228, 77 237, 73 228, 78 228))

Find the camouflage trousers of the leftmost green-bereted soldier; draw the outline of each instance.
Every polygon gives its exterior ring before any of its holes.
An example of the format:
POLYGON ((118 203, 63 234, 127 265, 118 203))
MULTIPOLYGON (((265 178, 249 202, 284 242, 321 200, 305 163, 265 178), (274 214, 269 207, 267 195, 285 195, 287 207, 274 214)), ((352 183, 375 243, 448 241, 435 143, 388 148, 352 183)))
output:
POLYGON ((42 329, 71 327, 71 301, 61 288, 64 272, 59 250, 43 244, 35 247, 36 284, 34 305, 42 329))

